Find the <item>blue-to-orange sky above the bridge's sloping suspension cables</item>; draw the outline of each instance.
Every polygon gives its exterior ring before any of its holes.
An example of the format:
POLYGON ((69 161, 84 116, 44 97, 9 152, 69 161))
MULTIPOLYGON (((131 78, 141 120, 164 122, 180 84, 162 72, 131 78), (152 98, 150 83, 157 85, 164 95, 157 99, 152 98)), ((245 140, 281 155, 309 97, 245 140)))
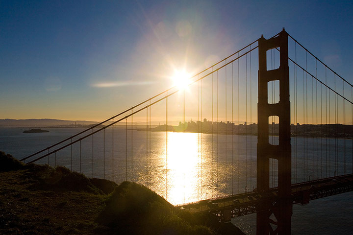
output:
POLYGON ((0 119, 100 121, 286 31, 353 83, 353 1, 0 0, 0 119))

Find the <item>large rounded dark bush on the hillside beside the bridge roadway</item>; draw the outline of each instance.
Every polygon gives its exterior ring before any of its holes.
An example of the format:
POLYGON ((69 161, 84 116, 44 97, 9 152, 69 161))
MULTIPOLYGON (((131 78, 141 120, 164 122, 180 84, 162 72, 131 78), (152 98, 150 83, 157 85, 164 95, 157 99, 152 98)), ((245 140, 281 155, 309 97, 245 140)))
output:
POLYGON ((97 221, 107 234, 211 235, 202 225, 178 216, 180 210, 144 186, 123 182, 114 189, 97 221))

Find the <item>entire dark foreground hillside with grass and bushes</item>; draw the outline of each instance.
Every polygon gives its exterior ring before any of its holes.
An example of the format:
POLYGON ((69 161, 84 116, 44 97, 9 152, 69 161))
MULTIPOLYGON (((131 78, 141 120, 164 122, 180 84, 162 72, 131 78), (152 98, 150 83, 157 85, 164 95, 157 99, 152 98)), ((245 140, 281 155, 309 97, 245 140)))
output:
POLYGON ((0 235, 243 234, 211 214, 176 209, 135 183, 88 179, 0 152, 0 235))

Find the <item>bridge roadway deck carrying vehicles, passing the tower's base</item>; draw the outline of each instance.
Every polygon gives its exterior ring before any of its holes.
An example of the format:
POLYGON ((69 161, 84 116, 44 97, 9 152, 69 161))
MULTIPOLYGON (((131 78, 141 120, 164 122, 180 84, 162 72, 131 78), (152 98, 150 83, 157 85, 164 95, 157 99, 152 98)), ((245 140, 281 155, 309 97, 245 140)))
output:
MULTIPOLYGON (((221 198, 201 200, 177 207, 191 213, 211 212, 220 221, 230 221, 232 217, 255 213, 261 205, 277 204, 277 188, 266 192, 241 193, 221 198)), ((330 177, 292 185, 293 204, 307 204, 310 200, 332 196, 353 190, 353 174, 330 177)))

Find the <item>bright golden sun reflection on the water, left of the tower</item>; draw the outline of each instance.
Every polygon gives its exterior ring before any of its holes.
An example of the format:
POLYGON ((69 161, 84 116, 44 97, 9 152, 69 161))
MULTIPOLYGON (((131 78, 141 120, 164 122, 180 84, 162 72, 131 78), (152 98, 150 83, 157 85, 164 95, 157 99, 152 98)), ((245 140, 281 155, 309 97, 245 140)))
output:
MULTIPOLYGON (((161 136, 161 133, 155 134, 161 136)), ((165 132, 163 134, 165 135, 165 132)), ((149 181, 147 179, 149 176, 144 174, 143 170, 140 171, 138 182, 150 185, 152 190, 170 203, 184 204, 238 191, 244 192, 250 186, 250 182, 253 187, 255 186, 254 147, 256 144, 254 142, 252 151, 248 149, 247 159, 245 149, 247 146, 243 144, 238 148, 238 142, 232 146, 231 136, 227 136, 228 154, 226 154, 225 135, 212 137, 210 134, 175 132, 168 132, 167 135, 168 140, 160 139, 164 144, 157 144, 159 149, 152 154, 151 173, 149 174, 151 182, 145 183, 149 181), (167 145, 166 142, 168 142, 167 145), (232 148, 233 155, 229 154, 232 148), (250 170, 250 156, 252 156, 252 171, 250 170), (238 167, 239 164, 243 167, 238 167), (249 178, 248 182, 246 176, 249 178)), ((239 141, 243 143, 245 138, 241 136, 239 141)), ((249 137, 250 140, 256 141, 254 137, 249 137)))

